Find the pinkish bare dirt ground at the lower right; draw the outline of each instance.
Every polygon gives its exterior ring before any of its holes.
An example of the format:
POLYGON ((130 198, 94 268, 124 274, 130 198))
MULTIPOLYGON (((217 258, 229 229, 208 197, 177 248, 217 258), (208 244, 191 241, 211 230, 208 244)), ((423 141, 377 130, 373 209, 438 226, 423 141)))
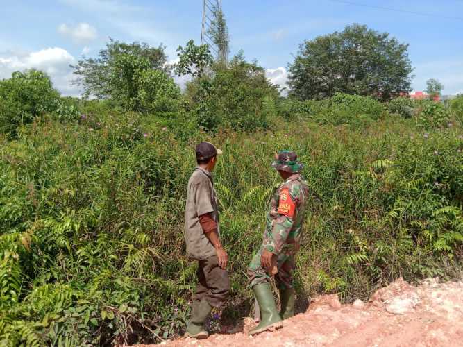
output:
POLYGON ((208 339, 176 339, 163 346, 463 346, 463 281, 437 279, 413 287, 399 279, 376 291, 370 301, 341 305, 336 295, 312 299, 307 312, 283 328, 255 337, 244 319, 226 334, 208 339))

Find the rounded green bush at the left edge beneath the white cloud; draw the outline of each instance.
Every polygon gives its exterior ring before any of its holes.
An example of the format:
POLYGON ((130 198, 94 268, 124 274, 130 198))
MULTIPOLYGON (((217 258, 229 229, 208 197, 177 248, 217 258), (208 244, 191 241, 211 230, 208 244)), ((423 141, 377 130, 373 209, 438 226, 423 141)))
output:
POLYGON ((44 72, 13 72, 11 78, 0 81, 0 133, 14 136, 17 126, 55 110, 58 99, 44 72))

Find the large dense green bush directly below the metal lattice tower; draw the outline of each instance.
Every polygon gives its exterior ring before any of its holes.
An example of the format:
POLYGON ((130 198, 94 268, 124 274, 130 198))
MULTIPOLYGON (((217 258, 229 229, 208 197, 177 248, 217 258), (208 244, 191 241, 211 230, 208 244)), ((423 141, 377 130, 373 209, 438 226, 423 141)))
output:
POLYGON ((253 131, 268 128, 268 108, 264 107, 269 99, 278 99, 278 90, 267 80, 264 68, 246 62, 240 53, 228 66, 214 65, 212 76, 189 83, 186 99, 206 130, 223 126, 253 131))

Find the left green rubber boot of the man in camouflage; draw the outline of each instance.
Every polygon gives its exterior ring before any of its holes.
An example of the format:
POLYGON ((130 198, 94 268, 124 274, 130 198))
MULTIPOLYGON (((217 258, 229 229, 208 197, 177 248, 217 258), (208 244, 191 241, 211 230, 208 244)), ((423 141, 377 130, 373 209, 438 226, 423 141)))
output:
POLYGON ((283 322, 276 310, 270 284, 261 283, 260 285, 255 285, 253 291, 260 307, 260 323, 249 332, 249 335, 259 334, 265 330, 282 328, 283 322))

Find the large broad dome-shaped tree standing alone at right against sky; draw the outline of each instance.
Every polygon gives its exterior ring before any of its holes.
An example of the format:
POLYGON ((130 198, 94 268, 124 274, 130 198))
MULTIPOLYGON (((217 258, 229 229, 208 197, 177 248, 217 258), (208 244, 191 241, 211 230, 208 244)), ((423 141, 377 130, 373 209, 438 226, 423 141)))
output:
POLYGON ((410 91, 413 69, 407 49, 388 33, 360 24, 306 40, 288 66, 290 95, 324 99, 342 92, 387 101, 410 91))

